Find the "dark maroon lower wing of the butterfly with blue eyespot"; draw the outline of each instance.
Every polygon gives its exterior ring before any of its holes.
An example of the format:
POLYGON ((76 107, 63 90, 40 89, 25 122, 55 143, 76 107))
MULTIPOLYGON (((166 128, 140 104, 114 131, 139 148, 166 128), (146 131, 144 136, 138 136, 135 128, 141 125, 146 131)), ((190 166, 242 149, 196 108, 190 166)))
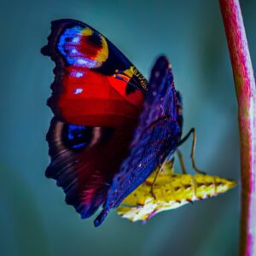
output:
POLYGON ((52 119, 47 135, 51 162, 46 176, 63 188, 67 204, 73 205, 82 218, 90 217, 106 200, 130 140, 131 131, 52 119))

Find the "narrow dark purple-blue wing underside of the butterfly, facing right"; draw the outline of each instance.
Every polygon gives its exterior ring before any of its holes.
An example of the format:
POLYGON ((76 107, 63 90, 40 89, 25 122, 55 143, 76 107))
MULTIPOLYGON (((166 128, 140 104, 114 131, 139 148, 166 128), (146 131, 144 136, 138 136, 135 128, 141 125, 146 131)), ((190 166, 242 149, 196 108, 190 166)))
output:
POLYGON ((151 73, 130 154, 113 177, 107 201, 94 222, 96 226, 174 152, 181 137, 182 122, 181 98, 174 87, 171 66, 161 56, 151 73))

